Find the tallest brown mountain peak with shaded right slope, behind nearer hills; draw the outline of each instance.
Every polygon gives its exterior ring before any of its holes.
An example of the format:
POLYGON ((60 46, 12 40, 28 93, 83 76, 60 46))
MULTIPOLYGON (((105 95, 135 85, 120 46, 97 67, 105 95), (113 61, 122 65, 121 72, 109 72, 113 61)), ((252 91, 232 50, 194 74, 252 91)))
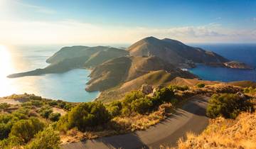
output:
POLYGON ((211 51, 201 48, 193 48, 178 40, 163 39, 154 37, 144 38, 127 48, 133 56, 157 56, 162 60, 181 67, 195 67, 194 63, 229 62, 228 59, 211 51))

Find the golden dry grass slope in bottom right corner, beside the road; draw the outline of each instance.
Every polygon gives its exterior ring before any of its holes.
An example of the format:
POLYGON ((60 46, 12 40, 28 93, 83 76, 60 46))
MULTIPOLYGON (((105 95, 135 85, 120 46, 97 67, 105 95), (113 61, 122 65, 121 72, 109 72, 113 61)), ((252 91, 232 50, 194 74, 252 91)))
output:
POLYGON ((216 118, 199 136, 187 133, 178 148, 256 148, 256 113, 243 113, 235 120, 216 118))

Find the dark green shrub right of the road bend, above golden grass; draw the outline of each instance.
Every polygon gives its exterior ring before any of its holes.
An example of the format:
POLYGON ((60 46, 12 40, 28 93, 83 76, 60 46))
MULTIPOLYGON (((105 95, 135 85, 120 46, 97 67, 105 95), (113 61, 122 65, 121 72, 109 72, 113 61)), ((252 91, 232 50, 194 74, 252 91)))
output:
POLYGON ((238 94, 214 94, 209 100, 206 115, 210 118, 223 116, 225 118, 235 118, 240 111, 253 110, 253 106, 245 98, 238 94))

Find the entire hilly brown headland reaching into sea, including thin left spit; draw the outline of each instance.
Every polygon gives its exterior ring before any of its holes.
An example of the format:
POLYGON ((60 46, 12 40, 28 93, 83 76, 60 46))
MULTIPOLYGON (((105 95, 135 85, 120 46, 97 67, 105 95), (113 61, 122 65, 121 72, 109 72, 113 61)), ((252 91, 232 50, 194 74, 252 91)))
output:
POLYGON ((92 70, 86 90, 100 91, 98 99, 112 98, 112 92, 119 95, 142 84, 153 86, 165 85, 176 77, 200 79, 183 68, 204 64, 212 67, 228 67, 232 69, 253 69, 242 62, 227 58, 201 48, 193 48, 178 40, 154 37, 144 38, 132 44, 126 50, 109 46, 73 46, 61 48, 46 62, 50 65, 43 69, 32 70, 9 75, 8 77, 24 77, 61 73, 75 68, 92 70), (119 87, 119 89, 115 89, 119 87))

